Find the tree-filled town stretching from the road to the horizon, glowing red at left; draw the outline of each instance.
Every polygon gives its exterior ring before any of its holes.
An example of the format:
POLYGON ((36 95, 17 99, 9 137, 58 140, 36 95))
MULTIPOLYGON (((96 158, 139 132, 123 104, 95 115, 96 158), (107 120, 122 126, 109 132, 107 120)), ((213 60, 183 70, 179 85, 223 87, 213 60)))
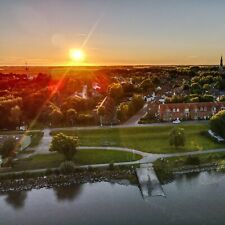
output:
POLYGON ((218 66, 2 67, 1 129, 207 120, 225 107, 218 66), (68 71, 66 71, 68 70, 68 71), (35 122, 34 122, 35 121, 35 122))

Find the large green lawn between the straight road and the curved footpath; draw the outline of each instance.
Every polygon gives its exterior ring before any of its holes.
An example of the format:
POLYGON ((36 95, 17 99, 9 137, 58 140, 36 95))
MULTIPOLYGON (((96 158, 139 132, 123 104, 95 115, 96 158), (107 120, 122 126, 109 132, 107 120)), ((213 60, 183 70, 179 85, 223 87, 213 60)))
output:
MULTIPOLYGON (((102 128, 95 130, 62 131, 77 135, 81 146, 121 146, 144 152, 168 153, 224 148, 207 134, 208 124, 180 124, 157 127, 102 128), (183 127, 186 135, 184 148, 175 149, 169 145, 169 133, 174 126, 183 127)), ((53 135, 57 132, 53 132, 53 135)))

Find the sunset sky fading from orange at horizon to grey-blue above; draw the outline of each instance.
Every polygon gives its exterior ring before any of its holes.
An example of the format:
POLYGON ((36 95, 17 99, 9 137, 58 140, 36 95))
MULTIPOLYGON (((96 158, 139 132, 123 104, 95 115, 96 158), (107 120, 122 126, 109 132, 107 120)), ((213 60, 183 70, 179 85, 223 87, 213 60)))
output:
POLYGON ((0 65, 217 64, 224 0, 0 0, 0 65))

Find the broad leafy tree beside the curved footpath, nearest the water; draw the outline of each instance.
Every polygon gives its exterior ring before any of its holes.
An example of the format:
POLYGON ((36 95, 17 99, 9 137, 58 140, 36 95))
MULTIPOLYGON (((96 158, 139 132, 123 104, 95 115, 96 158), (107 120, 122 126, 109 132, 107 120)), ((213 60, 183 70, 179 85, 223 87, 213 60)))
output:
POLYGON ((72 160, 78 146, 78 137, 67 136, 63 133, 55 135, 49 151, 63 154, 66 160, 72 160))

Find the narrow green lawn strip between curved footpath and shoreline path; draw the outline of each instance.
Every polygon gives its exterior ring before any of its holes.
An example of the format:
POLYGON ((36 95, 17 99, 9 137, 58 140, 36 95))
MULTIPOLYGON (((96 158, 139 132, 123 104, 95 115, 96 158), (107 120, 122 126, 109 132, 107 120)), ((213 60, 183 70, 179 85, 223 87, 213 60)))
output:
MULTIPOLYGON (((141 159, 140 155, 129 152, 113 151, 113 150, 80 150, 74 157, 76 165, 101 164, 136 161, 141 159)), ((27 159, 20 159, 15 162, 13 170, 29 170, 42 168, 55 168, 64 161, 62 155, 58 153, 35 155, 27 159)))

